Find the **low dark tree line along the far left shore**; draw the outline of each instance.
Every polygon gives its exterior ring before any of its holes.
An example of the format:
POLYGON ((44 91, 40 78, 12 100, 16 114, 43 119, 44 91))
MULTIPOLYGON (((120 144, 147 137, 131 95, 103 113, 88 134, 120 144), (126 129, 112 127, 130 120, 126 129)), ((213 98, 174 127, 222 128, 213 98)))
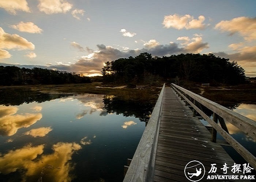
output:
POLYGON ((91 83, 91 79, 76 73, 37 67, 30 69, 16 66, 0 66, 0 85, 66 83, 91 83))

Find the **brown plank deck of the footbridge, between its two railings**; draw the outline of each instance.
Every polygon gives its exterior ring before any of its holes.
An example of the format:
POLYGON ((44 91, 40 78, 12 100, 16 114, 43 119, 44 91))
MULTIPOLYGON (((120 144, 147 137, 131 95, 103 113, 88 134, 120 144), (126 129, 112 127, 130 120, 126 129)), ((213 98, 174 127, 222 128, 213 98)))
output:
POLYGON ((211 133, 170 87, 163 93, 159 124, 153 181, 188 181, 184 169, 191 161, 199 161, 205 167, 200 181, 209 181, 208 175, 225 175, 221 170, 225 163, 229 167, 226 175, 234 175, 231 172, 234 161, 219 144, 211 142, 211 133), (216 164, 217 171, 208 174, 211 164, 216 164))

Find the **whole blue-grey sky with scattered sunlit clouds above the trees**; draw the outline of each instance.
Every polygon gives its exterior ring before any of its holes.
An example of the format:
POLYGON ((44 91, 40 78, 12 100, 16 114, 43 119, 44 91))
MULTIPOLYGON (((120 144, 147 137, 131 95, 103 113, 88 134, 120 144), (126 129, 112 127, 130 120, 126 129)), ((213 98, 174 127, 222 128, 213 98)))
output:
POLYGON ((0 0, 0 65, 101 75, 107 61, 209 54, 256 76, 255 0, 0 0))

